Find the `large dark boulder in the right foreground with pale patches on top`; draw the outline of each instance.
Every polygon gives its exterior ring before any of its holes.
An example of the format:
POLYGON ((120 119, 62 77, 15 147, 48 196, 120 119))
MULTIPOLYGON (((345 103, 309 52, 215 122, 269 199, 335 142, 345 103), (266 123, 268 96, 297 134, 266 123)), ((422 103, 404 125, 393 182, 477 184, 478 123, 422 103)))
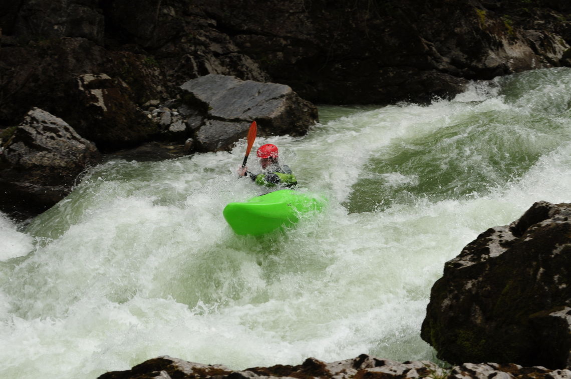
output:
POLYGON ((571 204, 539 201, 448 261, 421 336, 452 363, 571 368, 571 204))

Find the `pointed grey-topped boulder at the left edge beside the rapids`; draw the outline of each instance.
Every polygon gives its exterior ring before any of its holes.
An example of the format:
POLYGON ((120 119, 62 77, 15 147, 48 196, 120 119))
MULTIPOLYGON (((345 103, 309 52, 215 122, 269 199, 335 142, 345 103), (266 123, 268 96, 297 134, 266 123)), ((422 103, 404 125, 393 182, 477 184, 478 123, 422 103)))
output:
POLYGON ((63 199, 78 175, 99 162, 100 155, 65 121, 33 108, 0 158, 0 210, 27 216, 63 199))

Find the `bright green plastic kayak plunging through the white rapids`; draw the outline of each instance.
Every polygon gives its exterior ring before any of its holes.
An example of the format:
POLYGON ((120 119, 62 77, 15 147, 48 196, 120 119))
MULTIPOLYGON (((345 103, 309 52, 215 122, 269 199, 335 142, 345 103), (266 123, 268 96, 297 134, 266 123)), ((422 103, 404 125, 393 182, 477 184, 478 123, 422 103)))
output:
POLYGON ((252 197, 244 203, 230 203, 224 218, 239 235, 259 236, 296 224, 304 214, 320 211, 323 200, 293 190, 278 190, 252 197))

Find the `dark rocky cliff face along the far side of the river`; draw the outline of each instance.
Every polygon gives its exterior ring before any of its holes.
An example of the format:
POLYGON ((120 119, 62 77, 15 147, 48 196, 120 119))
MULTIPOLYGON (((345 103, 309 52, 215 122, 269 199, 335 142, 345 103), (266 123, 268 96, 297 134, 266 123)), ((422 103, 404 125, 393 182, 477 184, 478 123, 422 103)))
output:
POLYGON ((85 74, 121 80, 138 105, 206 74, 288 84, 314 103, 423 102, 569 65, 570 12, 562 0, 3 2, 0 126, 31 106, 71 122, 66 92, 85 74))

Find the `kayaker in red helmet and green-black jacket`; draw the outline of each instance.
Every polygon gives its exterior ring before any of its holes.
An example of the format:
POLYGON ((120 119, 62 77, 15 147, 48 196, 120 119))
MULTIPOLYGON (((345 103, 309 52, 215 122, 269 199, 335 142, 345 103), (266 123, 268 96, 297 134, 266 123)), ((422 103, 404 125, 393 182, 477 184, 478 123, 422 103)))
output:
POLYGON ((278 147, 267 143, 260 146, 256 152, 256 156, 260 158, 262 172, 260 174, 252 174, 248 171, 248 166, 240 167, 238 175, 250 176, 256 184, 266 187, 286 187, 291 188, 297 185, 297 179, 291 172, 291 169, 285 164, 282 166, 278 161, 278 147))

